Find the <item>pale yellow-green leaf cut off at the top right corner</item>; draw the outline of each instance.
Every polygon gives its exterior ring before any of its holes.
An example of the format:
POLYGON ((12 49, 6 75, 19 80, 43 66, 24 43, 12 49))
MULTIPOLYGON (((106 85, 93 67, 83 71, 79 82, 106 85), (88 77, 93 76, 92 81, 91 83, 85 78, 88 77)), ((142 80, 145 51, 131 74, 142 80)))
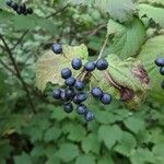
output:
POLYGON ((140 17, 147 15, 148 19, 152 19, 161 27, 164 27, 164 9, 149 4, 139 4, 138 9, 140 17))

